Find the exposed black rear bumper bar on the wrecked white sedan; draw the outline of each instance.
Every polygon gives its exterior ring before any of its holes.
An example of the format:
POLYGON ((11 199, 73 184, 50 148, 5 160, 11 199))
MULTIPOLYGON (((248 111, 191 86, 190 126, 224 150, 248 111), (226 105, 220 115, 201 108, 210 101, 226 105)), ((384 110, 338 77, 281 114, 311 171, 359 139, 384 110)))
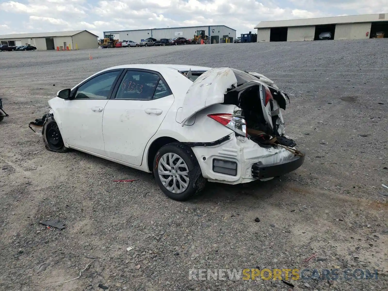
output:
POLYGON ((299 168, 305 161, 305 156, 295 156, 294 158, 279 163, 263 165, 258 162, 252 166, 252 177, 256 179, 267 179, 284 175, 299 168))

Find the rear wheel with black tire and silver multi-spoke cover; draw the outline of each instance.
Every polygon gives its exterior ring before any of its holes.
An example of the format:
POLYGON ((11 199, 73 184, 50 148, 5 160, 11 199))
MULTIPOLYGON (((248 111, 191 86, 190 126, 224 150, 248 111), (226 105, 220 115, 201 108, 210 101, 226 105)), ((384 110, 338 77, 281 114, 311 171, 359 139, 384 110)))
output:
POLYGON ((206 184, 194 152, 178 142, 166 144, 156 153, 154 176, 166 196, 177 201, 190 199, 206 184))

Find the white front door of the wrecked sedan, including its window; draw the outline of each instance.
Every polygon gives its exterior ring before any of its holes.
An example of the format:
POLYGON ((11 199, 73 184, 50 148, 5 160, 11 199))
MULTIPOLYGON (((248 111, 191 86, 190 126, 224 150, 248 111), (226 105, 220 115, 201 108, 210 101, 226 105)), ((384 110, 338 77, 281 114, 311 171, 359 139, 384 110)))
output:
POLYGON ((74 99, 65 100, 57 109, 67 144, 105 156, 102 115, 121 71, 108 71, 85 81, 72 93, 74 99))

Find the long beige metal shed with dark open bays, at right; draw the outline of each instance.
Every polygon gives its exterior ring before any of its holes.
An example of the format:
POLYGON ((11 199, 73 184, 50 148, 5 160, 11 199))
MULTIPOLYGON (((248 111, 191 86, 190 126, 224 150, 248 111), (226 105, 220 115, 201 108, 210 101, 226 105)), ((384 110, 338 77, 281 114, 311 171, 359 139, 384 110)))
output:
POLYGON ((372 38, 380 31, 388 37, 388 14, 262 21, 255 28, 257 42, 319 40, 322 32, 330 32, 334 40, 372 38))

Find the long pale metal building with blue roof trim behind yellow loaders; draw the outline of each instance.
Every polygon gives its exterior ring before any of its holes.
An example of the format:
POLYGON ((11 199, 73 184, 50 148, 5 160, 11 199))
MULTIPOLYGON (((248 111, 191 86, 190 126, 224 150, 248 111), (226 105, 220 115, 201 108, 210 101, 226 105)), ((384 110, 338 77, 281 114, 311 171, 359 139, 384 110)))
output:
POLYGON ((229 38, 229 41, 233 42, 236 38, 236 30, 225 25, 104 31, 104 35, 114 35, 114 39, 120 41, 132 40, 134 42, 140 42, 142 39, 149 37, 156 38, 157 40, 161 38, 174 38, 177 36, 191 39, 197 34, 197 30, 204 30, 205 34, 211 38, 211 43, 223 42, 225 38, 229 38))

